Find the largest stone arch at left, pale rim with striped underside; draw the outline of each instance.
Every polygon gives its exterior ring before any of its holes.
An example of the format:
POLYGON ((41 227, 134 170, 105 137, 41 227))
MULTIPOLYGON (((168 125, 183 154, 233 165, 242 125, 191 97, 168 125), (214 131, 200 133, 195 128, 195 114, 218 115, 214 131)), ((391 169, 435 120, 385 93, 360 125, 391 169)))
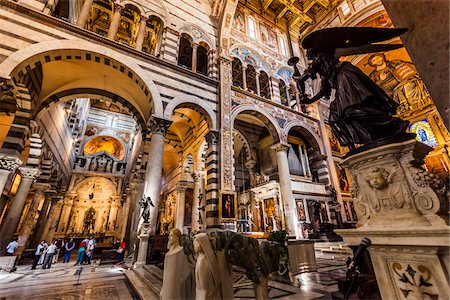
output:
MULTIPOLYGON (((51 61, 82 61, 102 64, 111 70, 117 70, 131 79, 140 89, 138 99, 141 114, 148 120, 153 113, 156 117, 163 115, 163 106, 159 91, 150 74, 143 71, 131 58, 101 45, 83 40, 57 40, 30 45, 14 52, 0 64, 0 78, 17 81, 20 75, 27 73, 27 67, 34 68, 51 61), (150 109, 145 109, 150 103, 150 109), (149 112, 146 112, 149 111, 149 112)), ((55 91, 56 92, 56 91, 55 91)), ((51 96, 51 95, 48 95, 51 96)), ((124 97, 125 98, 125 97, 124 97)))

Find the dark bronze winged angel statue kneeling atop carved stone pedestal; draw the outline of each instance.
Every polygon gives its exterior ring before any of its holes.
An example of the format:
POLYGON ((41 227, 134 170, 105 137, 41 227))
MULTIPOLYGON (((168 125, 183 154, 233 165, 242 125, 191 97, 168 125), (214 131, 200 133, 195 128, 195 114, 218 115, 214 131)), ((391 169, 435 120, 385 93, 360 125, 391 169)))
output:
POLYGON ((292 76, 297 83, 300 100, 313 103, 323 97, 329 99, 336 90, 330 104, 330 126, 342 146, 351 150, 356 145, 368 144, 383 138, 402 136, 409 124, 394 117, 399 106, 360 69, 349 62, 340 62, 345 55, 394 50, 399 44, 371 44, 385 41, 406 32, 406 29, 339 27, 315 31, 302 42, 310 60, 309 67, 300 74, 296 66, 297 57, 288 64, 294 66, 292 76), (321 79, 320 91, 308 98, 305 81, 321 79))

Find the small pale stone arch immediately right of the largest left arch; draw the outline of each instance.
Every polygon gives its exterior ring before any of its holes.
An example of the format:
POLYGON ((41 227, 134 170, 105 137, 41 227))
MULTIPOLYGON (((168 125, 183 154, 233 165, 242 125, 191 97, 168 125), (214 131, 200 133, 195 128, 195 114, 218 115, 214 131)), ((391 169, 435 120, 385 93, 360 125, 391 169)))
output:
POLYGON ((214 113, 214 110, 208 104, 206 104, 205 101, 200 100, 198 97, 192 95, 179 95, 170 100, 169 104, 167 104, 166 109, 164 110, 164 118, 171 120, 172 114, 175 109, 181 106, 191 108, 199 112, 200 115, 206 118, 210 130, 218 130, 216 113, 214 113))

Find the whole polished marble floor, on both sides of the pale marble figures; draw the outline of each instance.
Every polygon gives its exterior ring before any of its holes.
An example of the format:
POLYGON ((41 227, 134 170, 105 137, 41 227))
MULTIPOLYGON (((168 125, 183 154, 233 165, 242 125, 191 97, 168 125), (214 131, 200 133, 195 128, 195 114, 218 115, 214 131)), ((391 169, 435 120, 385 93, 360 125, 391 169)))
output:
MULTIPOLYGON (((318 272, 298 275, 297 286, 283 280, 268 282, 271 299, 331 299, 335 279, 345 276, 346 257, 317 257, 318 272)), ((235 299, 253 299, 253 284, 245 273, 233 272, 235 299)), ((56 263, 51 269, 19 266, 14 273, 0 272, 0 299, 139 299, 124 275, 113 265, 73 266, 56 263)))

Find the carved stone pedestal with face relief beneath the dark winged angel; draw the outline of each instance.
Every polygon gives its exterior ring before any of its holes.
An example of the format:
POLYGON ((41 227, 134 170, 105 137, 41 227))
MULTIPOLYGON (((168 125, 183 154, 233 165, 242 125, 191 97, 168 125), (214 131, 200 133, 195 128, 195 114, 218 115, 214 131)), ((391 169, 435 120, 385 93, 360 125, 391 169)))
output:
POLYGON ((415 140, 352 155, 342 165, 352 175, 358 228, 336 230, 348 244, 363 237, 383 299, 446 298, 450 227, 445 185, 423 170, 430 151, 415 140))

